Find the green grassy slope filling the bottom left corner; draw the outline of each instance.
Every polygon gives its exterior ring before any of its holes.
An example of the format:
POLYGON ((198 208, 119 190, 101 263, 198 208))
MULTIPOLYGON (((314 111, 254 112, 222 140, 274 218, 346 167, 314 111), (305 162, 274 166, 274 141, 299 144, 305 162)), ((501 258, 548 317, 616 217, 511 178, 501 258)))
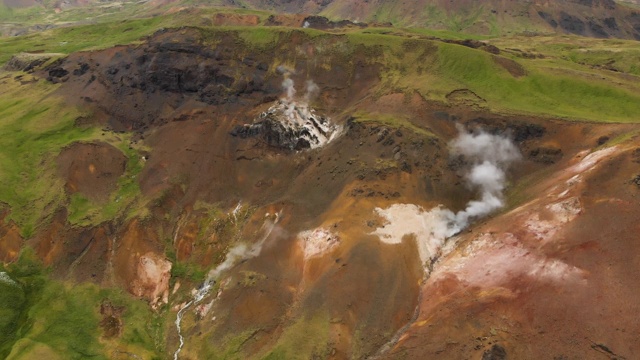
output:
POLYGON ((0 280, 0 304, 7 315, 0 320, 6 330, 0 333, 2 358, 108 359, 116 349, 160 358, 164 352, 165 316, 122 290, 52 280, 30 248, 0 271, 14 282, 0 280), (105 300, 124 308, 123 330, 120 337, 100 340, 99 310, 105 300))

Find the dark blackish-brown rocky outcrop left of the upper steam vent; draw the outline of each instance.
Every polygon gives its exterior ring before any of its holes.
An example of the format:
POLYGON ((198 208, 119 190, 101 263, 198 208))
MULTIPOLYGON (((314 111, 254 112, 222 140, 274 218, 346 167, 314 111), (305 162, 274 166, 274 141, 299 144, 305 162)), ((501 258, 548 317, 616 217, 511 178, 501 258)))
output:
POLYGON ((174 120, 167 109, 182 105, 245 108, 273 101, 279 79, 269 79, 266 56, 243 52, 228 33, 209 46, 197 29, 160 30, 141 46, 74 54, 49 65, 43 76, 65 82, 116 131, 144 131, 174 120), (271 81, 270 81, 271 80, 271 81), (125 100, 126 99, 126 100, 125 100))

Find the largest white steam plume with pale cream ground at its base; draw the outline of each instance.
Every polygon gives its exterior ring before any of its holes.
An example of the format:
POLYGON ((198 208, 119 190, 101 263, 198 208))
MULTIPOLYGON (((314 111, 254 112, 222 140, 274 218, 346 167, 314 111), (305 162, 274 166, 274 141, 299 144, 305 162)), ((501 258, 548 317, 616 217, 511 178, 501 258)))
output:
POLYGON ((520 159, 520 151, 505 136, 483 131, 460 134, 449 143, 452 155, 461 155, 470 162, 465 173, 468 186, 479 192, 479 199, 469 201, 463 210, 454 213, 442 206, 425 211, 413 204, 395 204, 376 212, 388 224, 373 233, 386 243, 400 243, 405 235, 416 237, 420 258, 427 262, 437 257, 447 238, 466 228, 471 221, 484 217, 504 206, 506 169, 520 159))

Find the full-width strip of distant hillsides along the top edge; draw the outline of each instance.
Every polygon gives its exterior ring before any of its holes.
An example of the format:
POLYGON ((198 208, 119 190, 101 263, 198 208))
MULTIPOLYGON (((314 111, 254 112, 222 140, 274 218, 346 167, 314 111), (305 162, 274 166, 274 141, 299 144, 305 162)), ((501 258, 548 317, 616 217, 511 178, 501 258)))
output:
POLYGON ((4 10, 0 12, 0 18, 11 22, 12 12, 26 14, 21 20, 37 20, 40 29, 56 23, 68 24, 69 21, 100 21, 104 14, 111 16, 114 11, 122 9, 126 10, 123 13, 125 16, 145 16, 190 7, 223 6, 486 36, 566 33, 597 38, 640 39, 640 8, 634 3, 613 0, 3 1, 4 10), (74 8, 91 10, 78 12, 74 8), (64 17, 65 11, 72 15, 64 17))

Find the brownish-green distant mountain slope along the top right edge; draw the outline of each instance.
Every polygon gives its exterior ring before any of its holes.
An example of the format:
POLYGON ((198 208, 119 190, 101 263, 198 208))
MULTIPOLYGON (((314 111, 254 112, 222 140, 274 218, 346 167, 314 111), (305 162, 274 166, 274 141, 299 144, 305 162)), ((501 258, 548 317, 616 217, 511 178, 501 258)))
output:
POLYGON ((472 34, 561 32, 640 39, 640 12, 613 0, 534 1, 249 1, 257 8, 316 13, 362 22, 390 22, 472 34))

